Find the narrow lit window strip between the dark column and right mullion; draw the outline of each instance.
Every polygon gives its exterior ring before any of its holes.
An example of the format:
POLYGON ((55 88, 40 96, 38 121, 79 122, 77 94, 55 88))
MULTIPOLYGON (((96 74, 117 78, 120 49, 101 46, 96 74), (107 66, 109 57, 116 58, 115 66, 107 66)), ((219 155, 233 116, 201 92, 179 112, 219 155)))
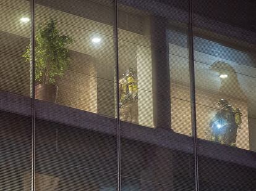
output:
POLYGON ((171 78, 171 128, 174 132, 191 136, 187 28, 168 30, 167 35, 169 43, 169 73, 171 78), (184 113, 186 114, 184 115, 184 113))

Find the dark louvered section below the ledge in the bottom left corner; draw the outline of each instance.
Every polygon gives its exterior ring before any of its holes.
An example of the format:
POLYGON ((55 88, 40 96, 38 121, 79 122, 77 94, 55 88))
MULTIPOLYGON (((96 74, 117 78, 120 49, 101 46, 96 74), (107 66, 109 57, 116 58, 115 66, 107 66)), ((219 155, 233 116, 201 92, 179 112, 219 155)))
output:
POLYGON ((0 190, 30 190, 31 118, 0 112, 0 190))

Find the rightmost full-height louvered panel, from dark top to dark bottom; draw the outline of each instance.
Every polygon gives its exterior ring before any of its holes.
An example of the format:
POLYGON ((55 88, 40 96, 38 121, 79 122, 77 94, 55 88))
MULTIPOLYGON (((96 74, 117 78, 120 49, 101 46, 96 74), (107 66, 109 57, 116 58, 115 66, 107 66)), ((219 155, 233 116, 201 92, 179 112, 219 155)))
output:
POLYGON ((225 161, 239 156, 237 147, 255 151, 255 3, 196 0, 193 6, 197 133, 213 142, 199 144, 198 152, 211 149, 222 158, 199 156, 200 190, 255 190, 255 169, 225 161))

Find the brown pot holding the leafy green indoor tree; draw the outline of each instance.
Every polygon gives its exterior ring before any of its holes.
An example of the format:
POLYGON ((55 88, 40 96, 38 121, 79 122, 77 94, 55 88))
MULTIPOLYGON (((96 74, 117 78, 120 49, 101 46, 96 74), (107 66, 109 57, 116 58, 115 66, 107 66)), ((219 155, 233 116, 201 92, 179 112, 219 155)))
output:
POLYGON ((46 102, 56 102, 58 87, 53 84, 38 84, 35 86, 35 98, 46 102))

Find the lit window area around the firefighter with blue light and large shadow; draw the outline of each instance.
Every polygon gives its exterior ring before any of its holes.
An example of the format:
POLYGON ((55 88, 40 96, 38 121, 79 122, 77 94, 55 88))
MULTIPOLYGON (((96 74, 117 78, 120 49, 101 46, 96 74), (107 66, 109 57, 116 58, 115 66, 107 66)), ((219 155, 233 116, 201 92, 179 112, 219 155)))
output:
POLYGON ((254 124, 248 118, 254 118, 253 50, 238 39, 226 38, 228 44, 213 35, 216 40, 210 32, 194 38, 198 138, 253 150, 254 124))

